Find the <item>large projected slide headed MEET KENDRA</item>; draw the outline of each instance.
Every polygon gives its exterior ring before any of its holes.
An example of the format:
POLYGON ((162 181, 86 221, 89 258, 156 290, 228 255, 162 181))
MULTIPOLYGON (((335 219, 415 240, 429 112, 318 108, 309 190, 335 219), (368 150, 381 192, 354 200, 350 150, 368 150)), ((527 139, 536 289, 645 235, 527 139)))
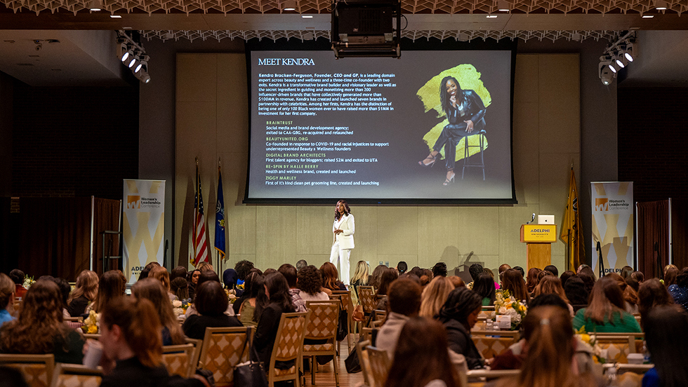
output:
POLYGON ((510 50, 248 60, 246 203, 515 203, 510 50))

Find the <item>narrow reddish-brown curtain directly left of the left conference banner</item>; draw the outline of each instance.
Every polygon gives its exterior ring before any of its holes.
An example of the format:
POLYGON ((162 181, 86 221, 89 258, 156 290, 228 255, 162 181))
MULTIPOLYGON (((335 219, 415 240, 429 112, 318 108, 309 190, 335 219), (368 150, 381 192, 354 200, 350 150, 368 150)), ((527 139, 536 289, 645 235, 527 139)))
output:
MULTIPOLYGON (((95 238, 95 254, 93 254, 93 267, 95 272, 102 274, 102 231, 120 231, 119 230, 119 216, 121 214, 120 201, 112 199, 95 198, 94 214, 93 214, 93 238, 95 238)), ((119 256, 119 234, 105 234, 105 255, 119 256)), ((107 263, 106 263, 107 265, 107 263)), ((110 269, 121 269, 121 259, 113 259, 110 263, 110 269)), ((106 266, 107 269, 107 266, 106 266)))

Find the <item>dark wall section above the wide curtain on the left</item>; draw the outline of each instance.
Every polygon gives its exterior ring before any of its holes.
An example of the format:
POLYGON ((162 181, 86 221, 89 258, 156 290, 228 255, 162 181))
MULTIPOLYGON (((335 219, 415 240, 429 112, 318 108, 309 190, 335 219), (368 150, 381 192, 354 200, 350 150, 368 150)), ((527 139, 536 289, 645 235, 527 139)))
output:
POLYGON ((138 178, 138 85, 15 86, 12 196, 121 199, 138 178))

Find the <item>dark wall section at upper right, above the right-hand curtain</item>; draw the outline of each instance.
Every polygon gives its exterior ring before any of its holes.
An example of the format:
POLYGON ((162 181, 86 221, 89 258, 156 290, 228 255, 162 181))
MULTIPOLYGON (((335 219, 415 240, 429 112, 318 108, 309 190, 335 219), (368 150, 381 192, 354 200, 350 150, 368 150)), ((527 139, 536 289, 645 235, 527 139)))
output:
POLYGON ((688 88, 617 93, 618 179, 635 201, 688 199, 688 88))

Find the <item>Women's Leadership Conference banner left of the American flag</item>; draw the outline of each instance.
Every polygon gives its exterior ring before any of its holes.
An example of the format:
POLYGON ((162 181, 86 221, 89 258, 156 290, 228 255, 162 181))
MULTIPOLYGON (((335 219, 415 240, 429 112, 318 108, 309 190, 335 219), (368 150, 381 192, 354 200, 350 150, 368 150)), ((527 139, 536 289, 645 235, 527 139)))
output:
POLYGON ((124 276, 135 283, 146 264, 163 264, 165 181, 124 180, 124 276))

